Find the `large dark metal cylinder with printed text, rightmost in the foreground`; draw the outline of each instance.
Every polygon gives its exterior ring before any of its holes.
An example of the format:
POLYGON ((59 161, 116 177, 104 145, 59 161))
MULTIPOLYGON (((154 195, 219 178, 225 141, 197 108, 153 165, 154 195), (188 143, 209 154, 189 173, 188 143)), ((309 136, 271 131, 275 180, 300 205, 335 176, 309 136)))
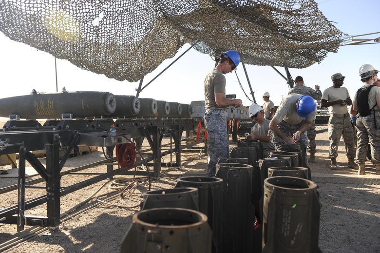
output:
POLYGON ((320 253, 321 205, 310 180, 275 176, 264 182, 263 253, 320 253))

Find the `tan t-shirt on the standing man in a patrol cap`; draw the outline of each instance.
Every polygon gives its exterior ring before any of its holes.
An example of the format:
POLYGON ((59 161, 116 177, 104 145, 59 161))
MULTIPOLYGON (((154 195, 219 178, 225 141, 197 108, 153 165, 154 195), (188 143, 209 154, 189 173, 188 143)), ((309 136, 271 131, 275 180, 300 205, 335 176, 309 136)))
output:
MULTIPOLYGON (((345 87, 335 88, 334 86, 328 87, 323 91, 321 99, 327 102, 333 102, 339 99, 346 100, 350 95, 345 87)), ((334 104, 328 107, 330 114, 346 114, 348 112, 347 105, 334 104)))

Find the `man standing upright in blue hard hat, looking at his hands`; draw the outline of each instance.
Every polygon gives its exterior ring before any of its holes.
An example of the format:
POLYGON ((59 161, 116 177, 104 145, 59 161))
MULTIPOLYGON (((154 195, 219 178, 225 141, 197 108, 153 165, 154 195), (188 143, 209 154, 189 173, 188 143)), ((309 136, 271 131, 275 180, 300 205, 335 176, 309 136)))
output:
POLYGON ((205 89, 205 127, 208 132, 207 174, 214 176, 216 163, 221 157, 228 157, 228 133, 226 107, 242 105, 241 99, 226 97, 226 78, 224 75, 236 70, 240 55, 229 50, 223 53, 218 65, 207 75, 205 89))

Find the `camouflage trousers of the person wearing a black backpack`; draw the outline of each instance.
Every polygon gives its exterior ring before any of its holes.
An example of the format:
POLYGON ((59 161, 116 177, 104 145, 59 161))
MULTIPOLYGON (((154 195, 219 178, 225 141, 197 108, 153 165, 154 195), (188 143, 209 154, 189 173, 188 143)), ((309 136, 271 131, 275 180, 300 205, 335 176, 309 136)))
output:
POLYGON ((374 165, 380 164, 380 111, 375 111, 376 125, 371 115, 358 117, 356 120, 356 130, 358 132, 358 146, 356 149, 355 162, 364 164, 367 160, 368 142, 371 147, 371 161, 374 165))

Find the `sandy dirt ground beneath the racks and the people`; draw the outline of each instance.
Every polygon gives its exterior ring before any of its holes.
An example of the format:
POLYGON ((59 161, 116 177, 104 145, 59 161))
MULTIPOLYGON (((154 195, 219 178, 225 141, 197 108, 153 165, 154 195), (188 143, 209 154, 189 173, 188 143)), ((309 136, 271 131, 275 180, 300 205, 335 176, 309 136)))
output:
MULTIPOLYGON (((326 126, 318 126, 318 129, 326 126)), ((167 139, 165 140, 167 141, 167 139)), ((319 186, 322 204, 320 220, 319 246, 323 253, 380 253, 380 176, 375 175, 374 167, 367 162, 367 175, 356 175, 356 171, 347 168, 347 157, 341 141, 338 156, 338 171, 329 170, 327 133, 317 135, 317 153, 315 163, 310 163, 313 181, 319 186)), ((144 144, 145 145, 145 144, 144 144)), ((198 144, 203 147, 204 144, 198 144)), ((234 145, 230 145, 230 148, 234 145)), ((152 190, 168 189, 175 185, 179 176, 187 173, 202 173, 206 170, 207 156, 198 149, 197 153, 183 153, 180 168, 163 168, 160 179, 152 181, 152 190)), ((70 158, 63 170, 78 167, 103 159, 101 149, 90 155, 70 158)), ((44 158, 40 161, 44 163, 44 158)), ((170 161, 165 156, 164 161, 170 161)), ((9 167, 0 167, 7 170, 9 167)), ((106 165, 87 169, 86 172, 105 172, 106 165)), ((90 178, 91 175, 65 175, 61 186, 90 178)), ((116 176, 115 176, 116 177, 116 176)), ((120 175, 132 181, 132 176, 120 175)), ((31 179, 37 178, 36 176, 31 179)), ((141 180, 146 178, 140 177, 141 180)), ((0 177, 0 188, 17 183, 17 178, 0 177)), ((104 180, 75 193, 61 197, 61 214, 92 195, 104 180)), ((40 183, 38 185, 44 185, 40 183)), ((103 188, 98 194, 112 190, 103 188)), ((133 206, 142 200, 141 194, 148 191, 148 185, 136 189, 132 196, 117 198, 113 204, 133 206)), ((26 189, 26 199, 44 194, 44 190, 26 189)), ((0 195, 0 208, 17 204, 17 191, 0 195)), ((120 242, 132 223, 132 216, 139 208, 122 209, 104 204, 90 209, 60 225, 59 230, 50 235, 39 235, 10 249, 8 252, 119 252, 120 242)), ((46 206, 42 205, 27 211, 29 215, 46 215, 46 206)), ((30 227, 26 227, 30 229, 30 227)), ((16 225, 0 223, 1 243, 18 235, 16 225)))

